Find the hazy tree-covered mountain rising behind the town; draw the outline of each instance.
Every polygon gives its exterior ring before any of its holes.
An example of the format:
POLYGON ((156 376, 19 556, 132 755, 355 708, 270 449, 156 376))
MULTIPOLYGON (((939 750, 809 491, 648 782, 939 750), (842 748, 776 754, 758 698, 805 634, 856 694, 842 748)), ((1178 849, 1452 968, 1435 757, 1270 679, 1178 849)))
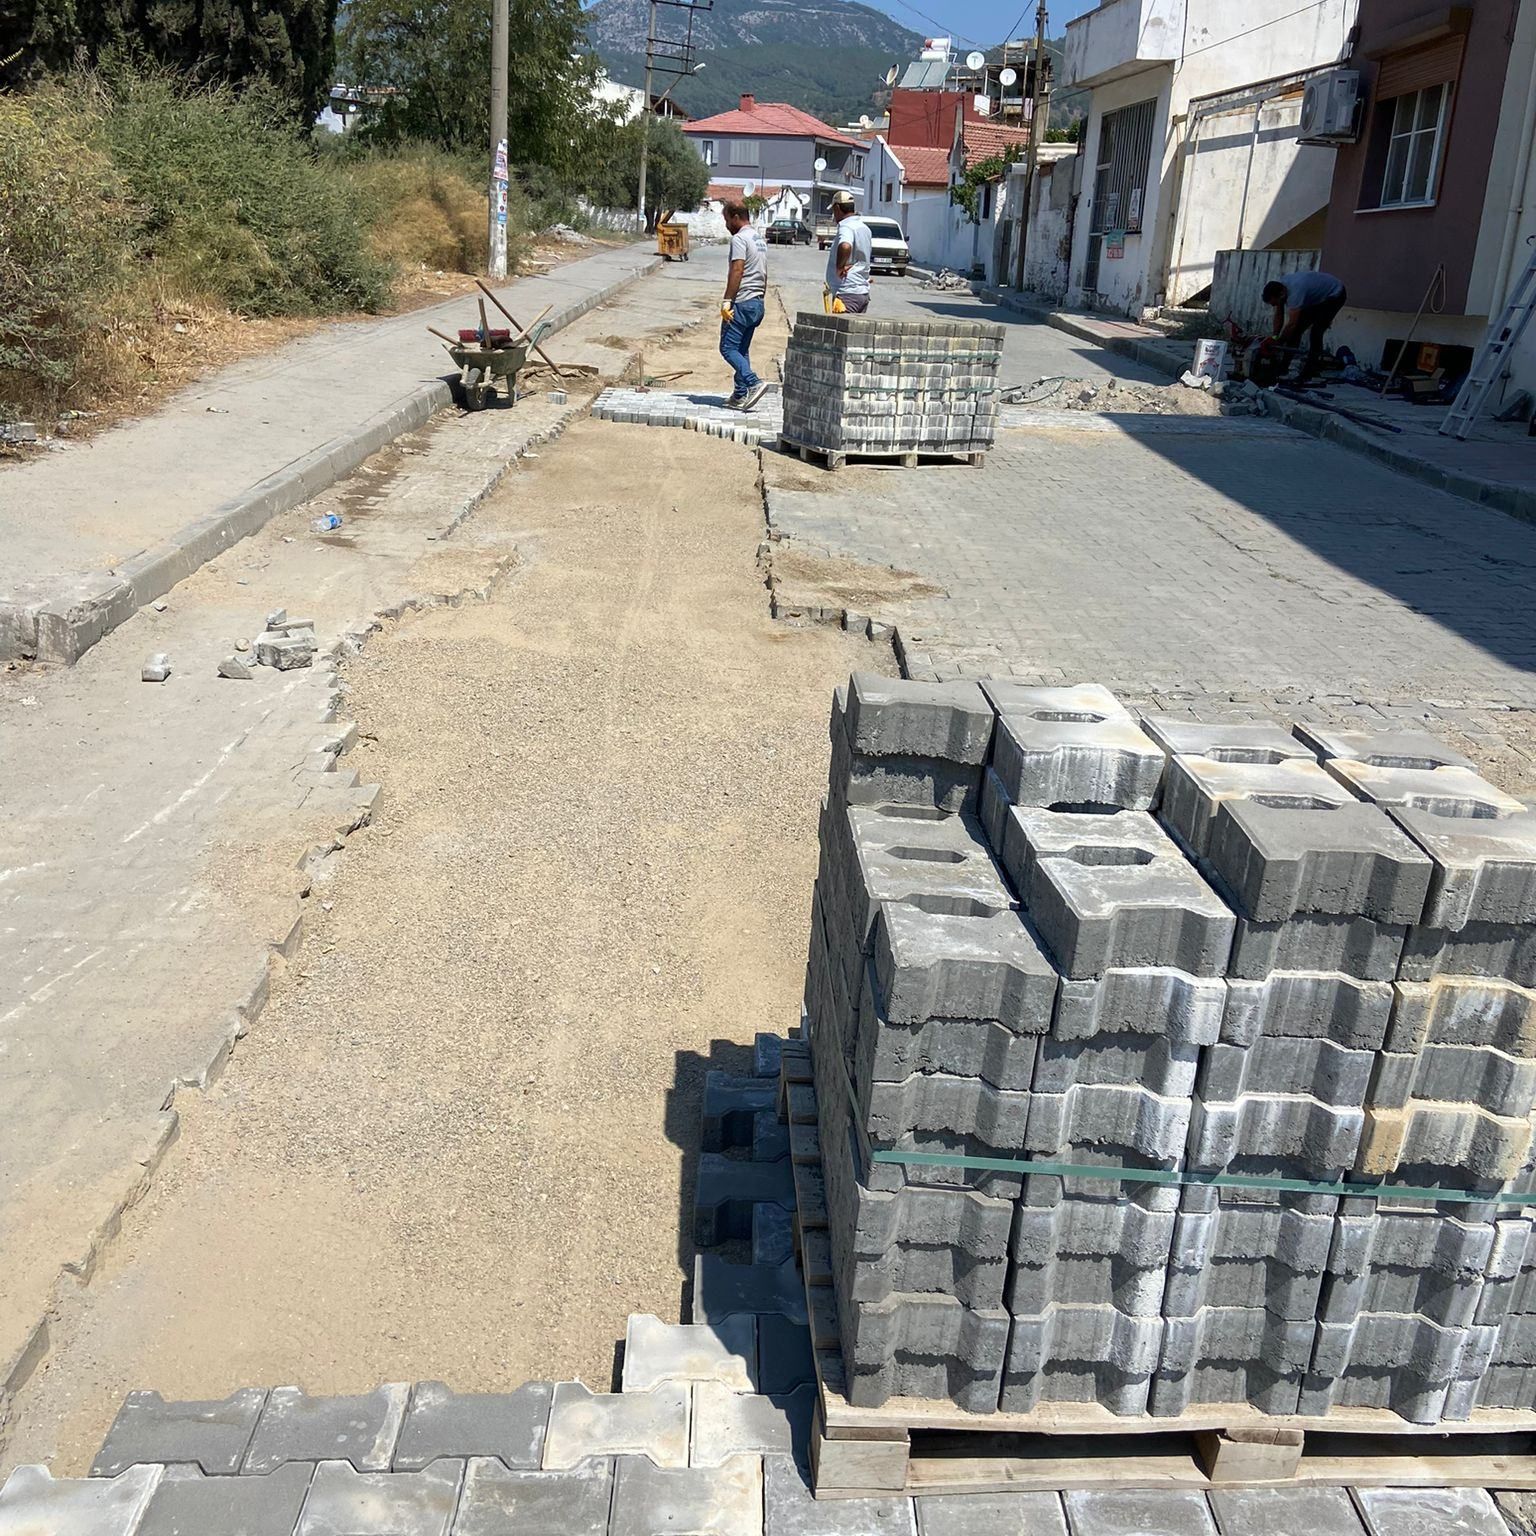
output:
MULTIPOLYGON (((647 0, 598 0, 587 34, 608 74, 627 86, 645 80, 647 0)), ((680 38, 688 12, 657 8, 664 38, 680 38)), ((743 91, 788 101, 834 126, 876 111, 891 65, 915 58, 922 37, 857 0, 714 0, 693 15, 705 68, 673 98, 693 117, 736 106, 743 91)), ((670 77, 657 75, 659 94, 670 77)))

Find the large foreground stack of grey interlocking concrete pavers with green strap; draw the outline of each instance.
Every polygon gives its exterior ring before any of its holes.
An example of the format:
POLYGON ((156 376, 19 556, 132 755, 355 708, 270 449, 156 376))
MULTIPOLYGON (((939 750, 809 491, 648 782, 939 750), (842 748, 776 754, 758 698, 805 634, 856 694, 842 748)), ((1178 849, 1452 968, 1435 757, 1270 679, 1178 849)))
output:
POLYGON ((852 1404, 1536 1407, 1536 813, 1465 759, 856 674, 811 929, 852 1404))

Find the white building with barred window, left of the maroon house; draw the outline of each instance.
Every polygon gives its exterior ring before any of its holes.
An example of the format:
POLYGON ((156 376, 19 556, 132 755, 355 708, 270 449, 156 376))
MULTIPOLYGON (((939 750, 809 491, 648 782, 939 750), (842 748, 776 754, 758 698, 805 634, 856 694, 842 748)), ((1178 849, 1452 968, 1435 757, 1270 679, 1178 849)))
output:
POLYGON ((1218 250, 1321 244, 1333 149, 1298 143, 1309 75, 1356 0, 1101 0, 1066 29, 1092 92, 1068 301, 1138 315, 1212 281, 1218 250))

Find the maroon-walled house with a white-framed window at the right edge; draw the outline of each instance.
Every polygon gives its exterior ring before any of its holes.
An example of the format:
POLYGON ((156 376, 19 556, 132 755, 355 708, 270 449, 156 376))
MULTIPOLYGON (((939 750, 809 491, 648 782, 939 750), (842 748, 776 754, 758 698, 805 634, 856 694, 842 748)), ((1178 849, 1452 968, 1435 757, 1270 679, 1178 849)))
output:
MULTIPOLYGON (((1361 0, 1347 65, 1361 101, 1322 238, 1349 289, 1332 341, 1385 369, 1412 330, 1404 367, 1456 378, 1536 249, 1536 6, 1361 0)), ((1505 378, 1536 393, 1536 326, 1505 378)))

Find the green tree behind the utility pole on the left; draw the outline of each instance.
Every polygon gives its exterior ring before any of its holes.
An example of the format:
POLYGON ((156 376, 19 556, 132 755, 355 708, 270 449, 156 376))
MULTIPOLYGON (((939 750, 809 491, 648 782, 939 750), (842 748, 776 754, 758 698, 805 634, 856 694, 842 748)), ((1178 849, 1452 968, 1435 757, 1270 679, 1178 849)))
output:
MULTIPOLYGON (((367 124, 369 138, 484 149, 490 0, 350 0, 338 41, 346 78, 399 92, 367 124)), ((511 0, 508 51, 510 161, 562 178, 579 174, 601 124, 591 104, 598 63, 587 52, 581 0, 511 0)))

